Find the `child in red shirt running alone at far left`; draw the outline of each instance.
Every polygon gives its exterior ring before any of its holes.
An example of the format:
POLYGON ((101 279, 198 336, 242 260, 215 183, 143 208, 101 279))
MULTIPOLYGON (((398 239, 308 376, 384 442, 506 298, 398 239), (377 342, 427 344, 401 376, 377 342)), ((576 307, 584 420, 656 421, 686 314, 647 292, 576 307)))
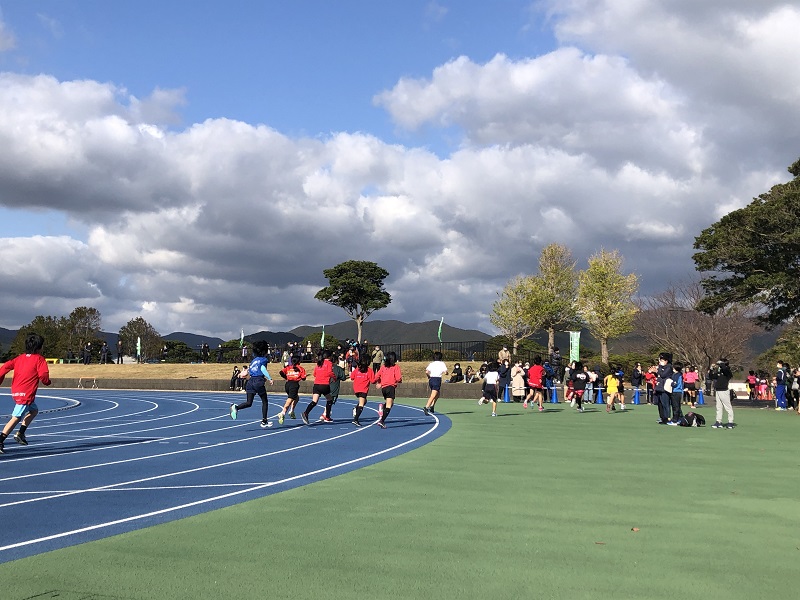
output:
POLYGON ((0 367, 0 384, 3 383, 6 373, 14 371, 14 378, 11 380, 11 397, 14 398, 14 411, 11 418, 0 433, 0 454, 5 452, 3 444, 9 434, 14 431, 14 427, 22 420, 19 431, 14 435, 14 441, 22 446, 28 445, 25 431, 30 427, 31 422, 39 414, 39 407, 36 406, 36 391, 39 383, 50 385, 50 370, 47 368, 47 361, 41 355, 44 346, 44 338, 38 333, 31 333, 25 338, 25 354, 20 354, 16 358, 0 367))

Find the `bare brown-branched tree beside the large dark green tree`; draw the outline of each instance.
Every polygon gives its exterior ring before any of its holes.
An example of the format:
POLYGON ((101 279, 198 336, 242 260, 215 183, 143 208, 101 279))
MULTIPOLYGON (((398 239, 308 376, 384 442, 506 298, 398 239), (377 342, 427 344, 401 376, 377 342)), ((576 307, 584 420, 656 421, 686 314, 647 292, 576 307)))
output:
POLYGON ((752 309, 731 307, 706 314, 696 310, 704 297, 699 281, 670 286, 660 294, 639 300, 637 329, 658 350, 708 370, 721 357, 740 363, 747 342, 760 331, 752 309))

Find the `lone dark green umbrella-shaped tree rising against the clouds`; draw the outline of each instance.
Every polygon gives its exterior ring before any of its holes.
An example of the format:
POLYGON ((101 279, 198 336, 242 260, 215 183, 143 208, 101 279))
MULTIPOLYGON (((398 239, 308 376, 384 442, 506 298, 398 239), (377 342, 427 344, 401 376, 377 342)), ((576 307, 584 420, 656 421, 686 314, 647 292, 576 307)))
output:
MULTIPOLYGON (((322 274, 328 279, 328 286, 318 291, 317 300, 338 306, 356 322, 361 342, 361 326, 366 318, 376 310, 386 308, 392 297, 383 288, 383 281, 389 271, 374 262, 348 260, 322 274)), ((326 340, 327 342, 327 340, 326 340)))

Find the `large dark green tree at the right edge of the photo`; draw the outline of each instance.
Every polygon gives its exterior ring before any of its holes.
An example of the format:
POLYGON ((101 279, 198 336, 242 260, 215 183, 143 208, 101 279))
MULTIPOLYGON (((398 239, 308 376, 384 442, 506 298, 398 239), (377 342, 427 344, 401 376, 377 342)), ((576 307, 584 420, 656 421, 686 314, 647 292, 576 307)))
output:
POLYGON ((706 296, 697 308, 714 313, 733 304, 759 307, 774 327, 800 315, 800 160, 794 179, 728 213, 695 238, 706 296))

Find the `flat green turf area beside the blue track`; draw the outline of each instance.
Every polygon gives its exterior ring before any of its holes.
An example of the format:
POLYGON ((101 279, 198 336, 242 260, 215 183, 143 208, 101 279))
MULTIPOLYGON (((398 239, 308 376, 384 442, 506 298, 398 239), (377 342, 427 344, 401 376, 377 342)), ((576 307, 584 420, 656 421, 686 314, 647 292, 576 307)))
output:
POLYGON ((657 426, 649 406, 501 405, 497 418, 472 401, 439 408, 453 428, 423 448, 0 565, 1 596, 797 596, 796 414, 740 409, 727 431, 657 426))

